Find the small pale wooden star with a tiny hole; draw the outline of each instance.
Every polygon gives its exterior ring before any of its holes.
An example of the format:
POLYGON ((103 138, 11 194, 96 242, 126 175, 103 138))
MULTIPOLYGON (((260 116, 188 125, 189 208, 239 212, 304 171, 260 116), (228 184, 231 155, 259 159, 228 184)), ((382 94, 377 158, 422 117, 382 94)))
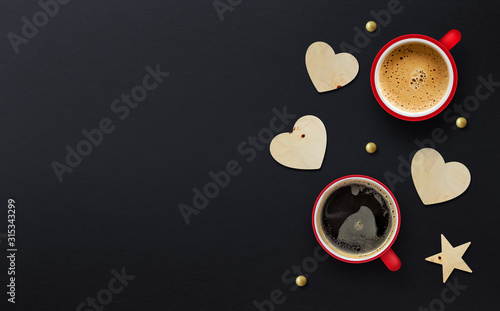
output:
POLYGON ((446 282, 453 269, 459 269, 472 273, 462 259, 471 242, 467 242, 457 247, 451 246, 450 242, 441 234, 441 253, 425 258, 425 260, 437 263, 443 266, 443 283, 446 282))

